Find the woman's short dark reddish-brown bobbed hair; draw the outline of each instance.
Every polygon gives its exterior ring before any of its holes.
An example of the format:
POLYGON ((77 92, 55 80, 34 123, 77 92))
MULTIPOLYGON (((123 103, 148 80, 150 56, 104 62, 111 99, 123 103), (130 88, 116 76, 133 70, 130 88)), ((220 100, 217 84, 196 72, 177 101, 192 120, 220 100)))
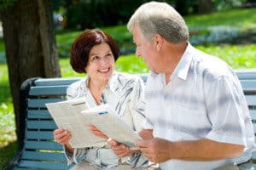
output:
POLYGON ((114 60, 119 58, 119 45, 113 40, 113 37, 101 30, 86 30, 75 39, 71 48, 70 64, 73 70, 85 73, 84 68, 89 59, 90 49, 102 42, 108 43, 114 60))

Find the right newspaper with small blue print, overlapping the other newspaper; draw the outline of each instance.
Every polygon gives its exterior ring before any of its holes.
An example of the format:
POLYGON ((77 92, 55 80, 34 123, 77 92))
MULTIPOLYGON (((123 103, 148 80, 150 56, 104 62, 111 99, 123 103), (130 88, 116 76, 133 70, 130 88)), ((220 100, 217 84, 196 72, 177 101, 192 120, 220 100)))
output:
POLYGON ((137 150, 135 142, 142 139, 135 131, 121 120, 119 115, 110 109, 108 104, 98 105, 81 112, 86 119, 119 143, 128 145, 131 150, 137 150))

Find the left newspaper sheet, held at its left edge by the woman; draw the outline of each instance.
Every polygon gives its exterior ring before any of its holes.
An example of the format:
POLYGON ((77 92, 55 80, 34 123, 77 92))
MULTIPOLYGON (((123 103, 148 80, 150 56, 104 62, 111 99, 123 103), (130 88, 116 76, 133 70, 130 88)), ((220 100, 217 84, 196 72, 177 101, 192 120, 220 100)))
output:
POLYGON ((45 104, 58 127, 72 134, 69 144, 73 148, 102 146, 106 140, 97 137, 89 130, 90 122, 81 114, 89 108, 84 99, 71 99, 45 104))

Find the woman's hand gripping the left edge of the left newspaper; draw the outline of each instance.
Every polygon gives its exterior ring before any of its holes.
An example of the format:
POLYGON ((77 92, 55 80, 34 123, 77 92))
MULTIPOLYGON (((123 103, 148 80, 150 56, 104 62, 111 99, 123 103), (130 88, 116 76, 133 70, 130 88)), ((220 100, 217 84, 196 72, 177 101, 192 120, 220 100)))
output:
POLYGON ((63 128, 57 128, 53 132, 54 139, 57 143, 62 145, 69 145, 68 142, 71 139, 71 133, 63 128))

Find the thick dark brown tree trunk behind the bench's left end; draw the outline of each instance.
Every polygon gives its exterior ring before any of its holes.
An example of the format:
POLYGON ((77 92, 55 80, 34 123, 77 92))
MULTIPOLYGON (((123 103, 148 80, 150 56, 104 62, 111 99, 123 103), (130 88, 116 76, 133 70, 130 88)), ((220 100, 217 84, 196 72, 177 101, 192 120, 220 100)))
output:
POLYGON ((15 108, 18 140, 20 85, 30 77, 61 77, 53 25, 52 0, 19 0, 0 9, 9 69, 9 84, 15 108))

